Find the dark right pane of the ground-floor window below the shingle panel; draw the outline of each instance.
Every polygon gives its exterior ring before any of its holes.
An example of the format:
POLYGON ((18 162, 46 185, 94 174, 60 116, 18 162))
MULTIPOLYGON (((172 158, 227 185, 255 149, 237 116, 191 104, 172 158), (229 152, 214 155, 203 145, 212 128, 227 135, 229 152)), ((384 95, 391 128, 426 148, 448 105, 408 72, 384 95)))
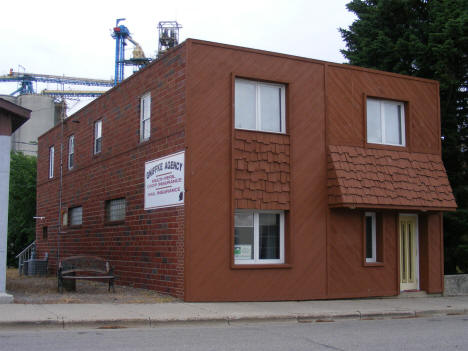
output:
POLYGON ((280 215, 275 213, 259 214, 260 259, 280 258, 280 215))

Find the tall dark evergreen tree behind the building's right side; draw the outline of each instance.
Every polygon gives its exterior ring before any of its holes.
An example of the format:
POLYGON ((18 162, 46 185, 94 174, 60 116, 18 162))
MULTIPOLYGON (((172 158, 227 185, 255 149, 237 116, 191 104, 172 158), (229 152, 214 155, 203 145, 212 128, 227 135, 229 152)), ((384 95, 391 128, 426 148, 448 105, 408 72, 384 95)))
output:
POLYGON ((442 158, 458 209, 444 218, 446 273, 468 272, 468 0, 353 0, 349 63, 440 82, 442 158))

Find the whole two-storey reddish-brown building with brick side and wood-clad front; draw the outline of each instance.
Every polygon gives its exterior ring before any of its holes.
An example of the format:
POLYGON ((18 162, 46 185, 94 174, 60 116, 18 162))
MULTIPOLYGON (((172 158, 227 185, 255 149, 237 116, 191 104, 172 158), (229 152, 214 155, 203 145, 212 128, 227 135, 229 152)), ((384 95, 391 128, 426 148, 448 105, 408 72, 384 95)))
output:
POLYGON ((38 250, 187 301, 439 293, 440 154, 435 81, 189 39, 39 138, 38 250))

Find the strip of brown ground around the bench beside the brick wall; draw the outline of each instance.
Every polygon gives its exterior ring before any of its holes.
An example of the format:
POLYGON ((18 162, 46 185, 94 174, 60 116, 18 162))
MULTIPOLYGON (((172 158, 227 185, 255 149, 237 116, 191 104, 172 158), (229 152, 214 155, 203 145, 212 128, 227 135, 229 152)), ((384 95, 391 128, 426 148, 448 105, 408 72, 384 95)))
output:
MULTIPOLYGON (((117 281, 118 283, 118 281, 117 281)), ((78 280, 76 291, 57 292, 57 277, 20 276, 18 269, 7 270, 6 290, 13 295, 14 303, 164 303, 175 302, 175 298, 158 294, 152 290, 129 286, 115 286, 115 293, 107 291, 107 283, 78 280)))

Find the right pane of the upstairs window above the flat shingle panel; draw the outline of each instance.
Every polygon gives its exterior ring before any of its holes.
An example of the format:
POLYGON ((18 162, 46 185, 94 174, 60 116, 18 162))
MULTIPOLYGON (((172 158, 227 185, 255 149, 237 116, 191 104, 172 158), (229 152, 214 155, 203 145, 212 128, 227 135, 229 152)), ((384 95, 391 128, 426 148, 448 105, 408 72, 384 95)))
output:
POLYGON ((260 129, 281 132, 281 88, 272 85, 260 86, 260 129))

